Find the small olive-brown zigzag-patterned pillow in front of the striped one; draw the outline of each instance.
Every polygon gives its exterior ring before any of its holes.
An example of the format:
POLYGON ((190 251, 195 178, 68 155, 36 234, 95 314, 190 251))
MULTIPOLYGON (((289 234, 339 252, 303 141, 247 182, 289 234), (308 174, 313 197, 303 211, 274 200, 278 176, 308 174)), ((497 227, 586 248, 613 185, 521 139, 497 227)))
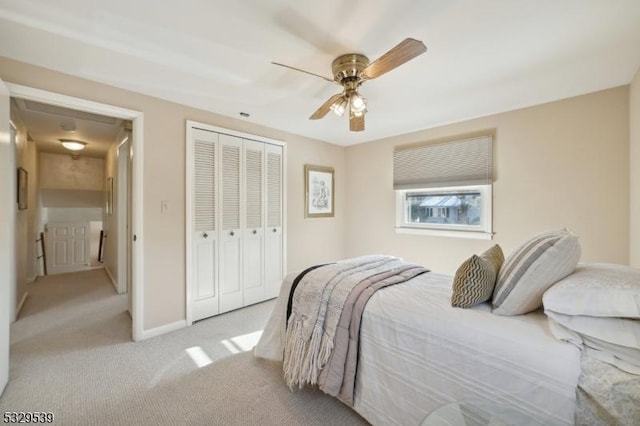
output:
POLYGON ((453 278, 451 306, 470 308, 491 299, 502 262, 504 254, 497 244, 465 260, 453 278))

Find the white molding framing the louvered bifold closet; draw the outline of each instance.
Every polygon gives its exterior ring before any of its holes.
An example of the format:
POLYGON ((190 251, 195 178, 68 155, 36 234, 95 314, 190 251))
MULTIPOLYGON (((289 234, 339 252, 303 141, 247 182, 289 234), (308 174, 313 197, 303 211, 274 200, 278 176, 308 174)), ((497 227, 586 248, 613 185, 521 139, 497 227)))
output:
POLYGON ((237 130, 231 130, 224 127, 212 126, 210 124, 201 123, 198 121, 187 120, 186 131, 186 215, 185 215, 185 231, 186 231, 186 298, 185 298, 185 311, 187 326, 193 324, 193 307, 191 304, 193 285, 193 129, 206 130, 210 132, 222 133, 230 136, 236 136, 242 139, 250 139, 258 142, 269 143, 272 145, 278 145, 282 147, 282 270, 287 271, 287 144, 277 139, 271 139, 264 136, 254 135, 251 133, 239 132, 237 130))

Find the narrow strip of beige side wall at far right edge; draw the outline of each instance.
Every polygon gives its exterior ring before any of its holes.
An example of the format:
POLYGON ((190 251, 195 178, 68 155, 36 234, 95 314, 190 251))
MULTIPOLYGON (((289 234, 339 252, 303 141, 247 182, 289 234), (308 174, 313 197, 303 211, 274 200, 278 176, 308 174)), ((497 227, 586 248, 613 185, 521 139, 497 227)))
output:
POLYGON ((640 69, 629 95, 630 230, 629 264, 640 268, 640 69))

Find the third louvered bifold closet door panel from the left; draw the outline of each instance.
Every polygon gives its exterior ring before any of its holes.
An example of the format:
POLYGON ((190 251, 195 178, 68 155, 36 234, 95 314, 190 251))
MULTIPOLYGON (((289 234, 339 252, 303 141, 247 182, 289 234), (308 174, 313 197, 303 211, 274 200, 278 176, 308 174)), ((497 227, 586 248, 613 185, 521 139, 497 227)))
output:
POLYGON ((264 143, 244 140, 244 305, 265 299, 264 280, 264 143))

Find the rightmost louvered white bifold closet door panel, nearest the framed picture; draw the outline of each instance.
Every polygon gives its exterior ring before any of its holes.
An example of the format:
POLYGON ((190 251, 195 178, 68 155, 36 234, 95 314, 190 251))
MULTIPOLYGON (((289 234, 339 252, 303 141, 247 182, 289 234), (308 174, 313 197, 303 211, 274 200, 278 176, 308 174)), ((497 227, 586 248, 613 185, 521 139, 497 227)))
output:
POLYGON ((283 222, 283 149, 281 146, 265 145, 265 247, 264 247, 264 279, 265 297, 277 297, 284 276, 283 253, 284 241, 282 233, 283 222))

